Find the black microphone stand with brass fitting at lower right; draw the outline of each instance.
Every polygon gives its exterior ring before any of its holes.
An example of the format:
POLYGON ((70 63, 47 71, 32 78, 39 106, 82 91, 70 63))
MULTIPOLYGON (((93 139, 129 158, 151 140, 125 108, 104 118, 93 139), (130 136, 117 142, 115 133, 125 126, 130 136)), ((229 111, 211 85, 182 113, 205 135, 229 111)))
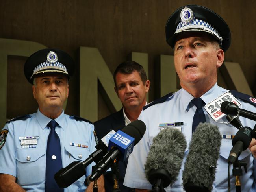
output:
POLYGON ((243 175, 243 170, 241 167, 244 167, 245 169, 245 173, 247 173, 247 162, 245 161, 240 161, 238 160, 238 158, 236 159, 236 161, 233 163, 233 175, 236 177, 236 192, 241 192, 241 183, 240 183, 240 178, 239 176, 243 175))

